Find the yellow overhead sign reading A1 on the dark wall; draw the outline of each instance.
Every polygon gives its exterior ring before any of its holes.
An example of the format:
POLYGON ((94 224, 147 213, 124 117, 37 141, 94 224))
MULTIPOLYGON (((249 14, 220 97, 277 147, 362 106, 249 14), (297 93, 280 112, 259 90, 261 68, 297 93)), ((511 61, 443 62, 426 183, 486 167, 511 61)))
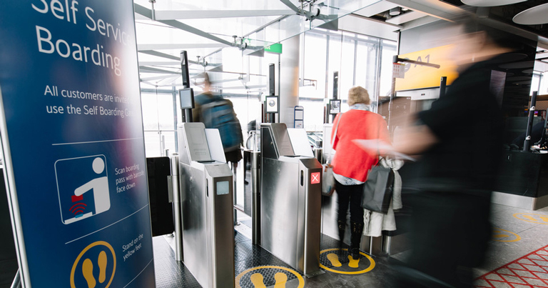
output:
MULTIPOLYGON (((455 46, 445 45, 432 49, 412 52, 399 55, 398 58, 410 59, 430 64, 438 64, 440 68, 430 66, 421 66, 420 64, 402 63, 405 64, 404 75, 401 73, 395 75, 396 91, 408 89, 424 89, 440 86, 442 76, 447 77, 447 85, 452 84, 457 76, 457 64, 452 59, 452 55, 458 53, 455 51, 455 46)), ((400 69, 400 68, 398 68, 400 69)))

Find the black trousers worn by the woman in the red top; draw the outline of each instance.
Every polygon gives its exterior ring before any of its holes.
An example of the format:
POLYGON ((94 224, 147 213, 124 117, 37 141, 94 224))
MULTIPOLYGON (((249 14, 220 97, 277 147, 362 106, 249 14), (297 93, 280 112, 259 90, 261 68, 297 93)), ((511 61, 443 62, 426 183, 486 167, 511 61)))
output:
POLYGON ((345 222, 350 204, 350 222, 363 223, 362 190, 363 184, 342 185, 335 180, 338 194, 338 220, 345 222))

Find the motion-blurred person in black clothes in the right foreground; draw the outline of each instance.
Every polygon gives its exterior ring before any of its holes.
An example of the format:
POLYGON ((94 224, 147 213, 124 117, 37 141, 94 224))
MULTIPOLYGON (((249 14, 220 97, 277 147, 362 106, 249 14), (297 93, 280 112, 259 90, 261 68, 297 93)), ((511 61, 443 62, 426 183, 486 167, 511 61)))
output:
POLYGON ((516 44, 507 34, 458 19, 459 77, 415 125, 397 136, 397 152, 418 155, 413 185, 412 254, 397 287, 472 287, 472 267, 491 239, 489 209, 502 150, 502 114, 489 88, 491 71, 516 44))

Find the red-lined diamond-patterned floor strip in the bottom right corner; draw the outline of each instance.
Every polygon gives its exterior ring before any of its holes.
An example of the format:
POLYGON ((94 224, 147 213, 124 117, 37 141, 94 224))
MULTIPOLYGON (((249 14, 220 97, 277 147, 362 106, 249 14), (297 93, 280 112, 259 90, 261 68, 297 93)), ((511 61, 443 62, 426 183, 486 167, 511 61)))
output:
POLYGON ((548 246, 478 277, 474 286, 478 288, 548 288, 548 246))

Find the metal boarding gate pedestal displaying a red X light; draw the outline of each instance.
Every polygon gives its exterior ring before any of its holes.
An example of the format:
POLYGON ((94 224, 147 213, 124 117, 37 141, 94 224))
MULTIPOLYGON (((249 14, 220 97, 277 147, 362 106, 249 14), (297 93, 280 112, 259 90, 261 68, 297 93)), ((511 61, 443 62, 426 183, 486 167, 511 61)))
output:
POLYGON ((261 246, 313 276, 320 272, 322 165, 295 155, 285 124, 260 130, 261 246))

